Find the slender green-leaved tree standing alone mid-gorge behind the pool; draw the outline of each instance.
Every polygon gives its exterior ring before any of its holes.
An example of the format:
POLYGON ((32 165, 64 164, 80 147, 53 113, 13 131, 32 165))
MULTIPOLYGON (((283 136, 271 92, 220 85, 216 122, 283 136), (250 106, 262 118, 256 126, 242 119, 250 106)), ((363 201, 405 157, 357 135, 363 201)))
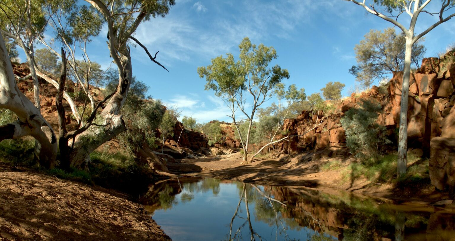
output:
POLYGON ((231 109, 230 117, 239 133, 244 153, 243 162, 248 160, 248 144, 254 115, 258 108, 273 94, 272 90, 283 78, 289 78, 288 70, 281 69, 279 65, 270 68, 270 62, 278 57, 276 50, 263 44, 253 45, 245 37, 239 45, 239 60, 235 61, 232 54, 226 58, 218 56, 212 59, 212 64, 207 67, 197 68, 201 78, 205 77, 206 90, 214 90, 215 95, 222 98, 231 109), (247 96, 251 103, 247 104, 247 96), (235 111, 240 109, 249 122, 246 137, 239 132, 235 111), (251 112, 249 112, 251 111, 251 112), (247 113, 248 112, 248 113, 247 113))

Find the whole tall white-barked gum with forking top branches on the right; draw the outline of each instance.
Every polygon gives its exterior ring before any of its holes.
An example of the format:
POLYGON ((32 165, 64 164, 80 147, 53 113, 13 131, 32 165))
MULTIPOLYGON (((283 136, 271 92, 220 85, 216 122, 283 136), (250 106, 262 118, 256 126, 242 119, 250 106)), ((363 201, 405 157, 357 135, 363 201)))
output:
POLYGON ((455 16, 455 13, 450 14, 454 5, 454 0, 442 0, 437 5, 438 11, 431 12, 426 7, 432 0, 344 0, 352 2, 364 8, 370 14, 376 15, 397 26, 404 34, 405 39, 405 54, 404 54, 404 70, 403 70, 403 86, 401 89, 401 105, 400 105, 400 121, 399 121, 399 143, 398 143, 398 163, 397 175, 401 176, 406 173, 407 163, 407 146, 408 146, 408 96, 409 96, 409 80, 411 75, 411 60, 412 48, 414 44, 423 36, 440 24, 450 20, 455 16), (384 7, 384 12, 378 10, 378 7, 384 7), (429 27, 420 33, 415 32, 415 25, 421 13, 426 13, 432 16, 437 16, 437 20, 432 22, 429 27), (399 16, 408 15, 410 20, 399 22, 399 16), (405 25, 409 24, 409 27, 405 25))

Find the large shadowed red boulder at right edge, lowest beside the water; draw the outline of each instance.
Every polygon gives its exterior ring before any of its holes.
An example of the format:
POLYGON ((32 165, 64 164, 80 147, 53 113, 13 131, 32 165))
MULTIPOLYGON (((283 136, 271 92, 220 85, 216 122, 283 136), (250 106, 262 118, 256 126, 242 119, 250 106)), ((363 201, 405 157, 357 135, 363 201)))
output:
POLYGON ((455 138, 435 137, 430 142, 429 174, 439 190, 455 188, 455 138))

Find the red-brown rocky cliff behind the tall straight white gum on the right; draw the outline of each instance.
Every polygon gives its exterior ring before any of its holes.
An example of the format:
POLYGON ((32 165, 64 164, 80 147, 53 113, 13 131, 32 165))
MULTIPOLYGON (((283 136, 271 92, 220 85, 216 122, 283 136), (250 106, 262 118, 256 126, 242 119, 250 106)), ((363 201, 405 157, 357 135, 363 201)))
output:
MULTIPOLYGON (((311 129, 321 113, 312 115, 303 111, 296 119, 284 121, 283 129, 290 135, 288 142, 276 147, 287 154, 326 150, 325 156, 349 155, 346 137, 340 119, 351 108, 357 108, 362 99, 381 103, 378 123, 386 126, 390 134, 399 128, 401 87, 403 73, 395 72, 387 91, 373 86, 369 92, 351 95, 343 100, 335 113, 328 115, 320 126, 311 129), (302 135, 302 136, 298 136, 302 135)), ((455 138, 455 51, 443 58, 425 58, 420 69, 411 74, 408 99, 408 148, 417 156, 430 157, 432 183, 441 190, 454 188, 455 165, 453 160, 455 138)))

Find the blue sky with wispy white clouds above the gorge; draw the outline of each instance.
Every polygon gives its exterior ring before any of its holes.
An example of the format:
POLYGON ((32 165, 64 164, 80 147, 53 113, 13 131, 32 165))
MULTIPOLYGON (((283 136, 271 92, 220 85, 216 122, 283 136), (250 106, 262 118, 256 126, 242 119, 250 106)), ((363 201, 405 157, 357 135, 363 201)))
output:
MULTIPOLYGON (((427 9, 437 10, 438 5, 440 1, 433 0, 427 9)), ((398 20, 409 25, 409 15, 398 20)), ((435 21, 436 17, 422 14, 416 33, 435 21)), ((289 71, 285 85, 295 84, 310 95, 321 92, 329 81, 339 81, 346 85, 342 94, 348 95, 355 84, 348 72, 356 65, 354 46, 370 29, 388 27, 393 25, 344 0, 176 0, 165 18, 143 22, 134 35, 151 53, 159 51, 157 61, 169 72, 137 46, 131 49, 133 75, 150 86, 148 94, 154 99, 177 107, 180 119, 186 115, 202 123, 231 122, 224 102, 204 90, 206 80, 199 77, 197 67, 226 53, 238 56, 244 37, 275 48, 278 58, 270 66, 278 64, 289 71)), ((104 67, 111 62, 106 33, 105 27, 88 46, 91 60, 104 67)), ((425 56, 437 56, 454 42, 455 19, 426 35, 425 56)))

